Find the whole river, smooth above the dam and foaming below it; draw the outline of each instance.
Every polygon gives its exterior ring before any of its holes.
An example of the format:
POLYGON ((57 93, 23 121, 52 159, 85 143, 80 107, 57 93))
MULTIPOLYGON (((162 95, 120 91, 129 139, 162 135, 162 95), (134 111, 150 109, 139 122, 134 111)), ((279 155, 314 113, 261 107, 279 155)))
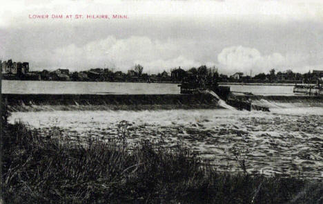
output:
MULTIPOLYGON (((232 91, 262 95, 293 95, 293 86, 231 85, 232 91)), ((111 82, 3 81, 4 93, 178 94, 177 84, 111 82)), ((146 139, 178 142, 211 161, 218 171, 239 171, 235 151, 246 158, 250 173, 290 174, 323 178, 323 103, 299 100, 268 104, 271 112, 231 109, 173 109, 141 111, 12 112, 44 136, 58 131, 69 138, 117 137, 119 124, 131 124, 129 144, 146 139)))

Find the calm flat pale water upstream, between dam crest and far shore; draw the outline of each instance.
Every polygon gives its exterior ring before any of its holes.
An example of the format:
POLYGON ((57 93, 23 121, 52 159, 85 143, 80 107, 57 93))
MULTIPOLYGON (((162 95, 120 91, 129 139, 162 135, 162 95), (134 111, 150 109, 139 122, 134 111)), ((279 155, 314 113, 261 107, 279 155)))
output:
MULTIPOLYGON (((130 82, 55 82, 3 80, 2 93, 49 94, 179 94, 178 84, 130 82)), ((293 86, 227 85, 255 95, 293 95, 293 86)))

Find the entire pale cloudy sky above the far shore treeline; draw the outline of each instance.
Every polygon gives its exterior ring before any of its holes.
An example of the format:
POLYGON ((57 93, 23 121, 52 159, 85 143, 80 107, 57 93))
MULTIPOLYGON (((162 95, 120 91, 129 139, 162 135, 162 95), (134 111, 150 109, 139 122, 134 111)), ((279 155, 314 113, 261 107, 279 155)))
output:
POLYGON ((320 1, 0 2, 0 59, 29 62, 32 71, 127 71, 135 64, 144 73, 201 65, 228 75, 323 70, 320 1))

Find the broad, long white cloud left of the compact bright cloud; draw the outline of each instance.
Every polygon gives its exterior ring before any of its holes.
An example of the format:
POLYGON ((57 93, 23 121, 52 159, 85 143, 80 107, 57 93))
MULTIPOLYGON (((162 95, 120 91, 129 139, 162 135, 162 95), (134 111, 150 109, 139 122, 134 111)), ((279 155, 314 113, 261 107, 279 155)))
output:
POLYGON ((169 71, 175 66, 190 68, 201 65, 188 57, 188 53, 190 50, 171 39, 160 41, 141 36, 117 39, 110 35, 106 39, 90 41, 84 46, 69 44, 43 51, 42 54, 46 57, 39 57, 33 64, 37 64, 39 68, 50 64, 50 67, 43 68, 58 68, 63 65, 71 70, 112 67, 121 71, 141 64, 146 72, 157 73, 169 71))

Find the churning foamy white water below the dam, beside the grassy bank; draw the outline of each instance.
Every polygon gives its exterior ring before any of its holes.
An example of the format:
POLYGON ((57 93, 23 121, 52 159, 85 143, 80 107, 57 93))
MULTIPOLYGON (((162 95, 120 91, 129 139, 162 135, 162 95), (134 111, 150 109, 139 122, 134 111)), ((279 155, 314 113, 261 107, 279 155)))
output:
POLYGON ((169 146, 183 142, 211 160, 219 170, 237 171, 233 148, 246 156, 248 171, 264 174, 304 173, 323 178, 323 110, 320 107, 235 111, 228 109, 159 111, 14 112, 43 135, 59 129, 71 138, 117 136, 117 124, 131 124, 128 142, 163 138, 169 146))

